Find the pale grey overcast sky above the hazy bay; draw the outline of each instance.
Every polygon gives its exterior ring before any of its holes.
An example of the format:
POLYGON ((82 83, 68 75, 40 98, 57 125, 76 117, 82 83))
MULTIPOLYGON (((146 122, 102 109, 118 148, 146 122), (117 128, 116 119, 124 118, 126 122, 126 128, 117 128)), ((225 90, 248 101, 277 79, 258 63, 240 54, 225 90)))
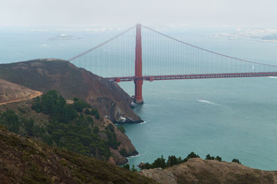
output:
POLYGON ((0 26, 277 28, 276 0, 0 0, 0 26))

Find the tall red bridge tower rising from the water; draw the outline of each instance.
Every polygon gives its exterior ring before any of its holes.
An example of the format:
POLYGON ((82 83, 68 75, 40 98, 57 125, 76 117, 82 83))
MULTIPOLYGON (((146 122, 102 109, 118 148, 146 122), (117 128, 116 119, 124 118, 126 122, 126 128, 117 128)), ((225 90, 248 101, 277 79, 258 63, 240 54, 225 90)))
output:
POLYGON ((141 48, 141 24, 136 24, 136 60, 134 70, 134 102, 143 103, 143 61, 141 48))

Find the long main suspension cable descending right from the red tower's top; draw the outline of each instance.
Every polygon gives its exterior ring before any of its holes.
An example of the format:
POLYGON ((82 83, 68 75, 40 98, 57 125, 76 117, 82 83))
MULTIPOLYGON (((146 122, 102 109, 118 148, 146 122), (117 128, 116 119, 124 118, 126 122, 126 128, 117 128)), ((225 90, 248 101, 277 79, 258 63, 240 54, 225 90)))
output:
POLYGON ((206 50, 206 49, 204 49, 204 48, 199 48, 198 46, 192 45, 192 44, 190 44, 190 43, 186 43, 186 42, 181 41, 181 40, 179 40, 179 39, 175 39, 175 38, 173 38, 173 37, 168 36, 167 34, 163 34, 163 33, 161 33, 161 32, 158 32, 157 30, 153 30, 152 28, 149 28, 149 27, 146 26, 146 25, 141 25, 141 26, 142 26, 143 28, 146 28, 146 29, 148 29, 148 30, 151 30, 152 32, 156 32, 157 34, 161 34, 163 37, 167 37, 168 39, 172 39, 172 40, 178 41, 179 43, 184 43, 184 44, 186 44, 186 45, 189 45, 189 46, 191 46, 191 47, 193 47, 193 48, 197 48, 197 49, 199 49, 199 50, 204 50, 204 51, 206 51, 206 52, 210 52, 210 53, 213 53, 213 54, 217 54, 217 55, 220 55, 220 56, 222 56, 222 57, 228 57, 228 58, 230 58, 230 59, 235 59, 235 60, 239 60, 239 61, 244 61, 244 62, 247 62, 247 63, 253 63, 253 64, 258 64, 258 65, 267 65, 267 66, 271 66, 271 67, 276 67, 276 68, 277 68, 277 65, 269 65, 269 64, 265 64, 265 63, 257 63, 257 62, 254 62, 254 61, 247 61, 247 60, 244 60, 244 59, 239 59, 239 58, 235 58, 235 57, 230 57, 230 56, 227 56, 227 55, 225 55, 225 54, 220 54, 220 53, 218 53, 218 52, 213 52, 213 51, 211 51, 211 50, 206 50))

